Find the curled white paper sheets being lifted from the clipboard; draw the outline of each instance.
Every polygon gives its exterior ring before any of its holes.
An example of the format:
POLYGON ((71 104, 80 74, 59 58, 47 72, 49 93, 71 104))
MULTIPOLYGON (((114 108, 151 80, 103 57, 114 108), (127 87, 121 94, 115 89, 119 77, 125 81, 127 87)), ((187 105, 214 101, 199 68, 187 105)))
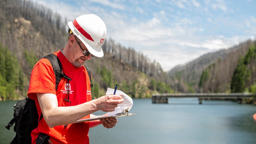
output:
MULTIPOLYGON (((108 88, 107 92, 106 92, 106 95, 113 94, 114 91, 115 91, 114 89, 108 88)), ((128 109, 128 112, 129 112, 130 109, 133 106, 133 100, 127 94, 123 93, 120 90, 117 90, 116 95, 121 95, 123 97, 123 102, 120 103, 120 104, 117 104, 117 107, 115 108, 115 111, 108 112, 108 115, 111 115, 111 116, 120 115, 119 113, 122 113, 126 109, 128 109)))

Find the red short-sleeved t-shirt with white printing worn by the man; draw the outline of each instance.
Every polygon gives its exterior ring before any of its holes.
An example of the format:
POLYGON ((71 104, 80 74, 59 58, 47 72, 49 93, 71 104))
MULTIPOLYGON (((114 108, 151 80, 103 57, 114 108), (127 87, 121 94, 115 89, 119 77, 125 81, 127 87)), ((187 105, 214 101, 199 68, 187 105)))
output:
MULTIPOLYGON (((72 80, 68 82, 67 79, 62 78, 56 91, 55 74, 50 61, 43 58, 35 64, 31 73, 28 97, 35 100, 39 116, 42 111, 36 93, 56 94, 59 107, 70 106, 69 102, 63 100, 68 99, 68 91, 71 106, 79 105, 91 100, 90 79, 86 68, 84 66, 80 68, 73 66, 61 51, 57 51, 54 54, 57 55, 62 64, 63 73, 69 76, 72 80)), ((89 117, 90 115, 86 116, 86 118, 89 117)), ((44 118, 42 118, 38 127, 31 133, 32 144, 35 144, 39 133, 49 135, 53 144, 89 144, 88 132, 89 123, 75 123, 68 124, 67 127, 62 125, 50 128, 44 118)))

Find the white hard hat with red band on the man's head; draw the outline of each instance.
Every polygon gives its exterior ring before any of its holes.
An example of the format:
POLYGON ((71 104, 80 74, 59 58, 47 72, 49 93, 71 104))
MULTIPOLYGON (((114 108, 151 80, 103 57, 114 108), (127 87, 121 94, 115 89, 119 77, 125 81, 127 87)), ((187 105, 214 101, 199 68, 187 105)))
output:
POLYGON ((102 57, 101 46, 105 41, 107 28, 105 23, 95 14, 78 16, 73 22, 68 22, 70 33, 83 42, 88 51, 96 57, 102 57))

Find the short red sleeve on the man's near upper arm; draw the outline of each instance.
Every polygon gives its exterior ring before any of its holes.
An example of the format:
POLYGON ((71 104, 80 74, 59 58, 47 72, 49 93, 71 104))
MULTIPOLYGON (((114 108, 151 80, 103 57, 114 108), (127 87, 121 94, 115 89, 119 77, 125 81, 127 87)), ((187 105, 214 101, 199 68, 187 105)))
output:
POLYGON ((52 64, 46 58, 40 59, 31 73, 28 97, 37 100, 36 93, 53 93, 56 95, 55 74, 52 64))

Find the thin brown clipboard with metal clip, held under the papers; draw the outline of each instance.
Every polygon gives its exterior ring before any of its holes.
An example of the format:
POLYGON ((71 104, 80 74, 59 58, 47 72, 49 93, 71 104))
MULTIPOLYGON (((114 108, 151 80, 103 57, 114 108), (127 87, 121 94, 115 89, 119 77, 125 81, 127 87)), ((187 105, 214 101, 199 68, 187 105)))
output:
POLYGON ((85 119, 79 119, 71 124, 79 123, 79 122, 87 122, 87 121, 93 121, 93 120, 99 120, 99 119, 106 119, 111 117, 122 117, 122 116, 129 116, 129 115, 135 115, 136 113, 128 113, 128 109, 124 110, 122 113, 117 113, 116 115, 106 115, 106 116, 99 116, 99 117, 92 117, 92 118, 85 118, 85 119))

